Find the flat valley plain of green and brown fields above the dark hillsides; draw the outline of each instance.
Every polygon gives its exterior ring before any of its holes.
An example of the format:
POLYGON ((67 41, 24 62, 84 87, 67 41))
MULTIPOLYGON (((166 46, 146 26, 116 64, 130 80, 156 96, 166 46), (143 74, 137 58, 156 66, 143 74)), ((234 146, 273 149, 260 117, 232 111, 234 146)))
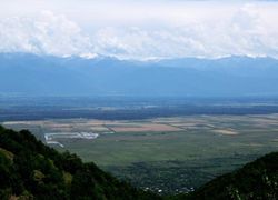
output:
POLYGON ((53 138, 133 184, 178 193, 278 150, 278 114, 189 116, 133 121, 89 119, 3 122, 30 129, 44 140, 49 132, 99 133, 96 139, 53 138))

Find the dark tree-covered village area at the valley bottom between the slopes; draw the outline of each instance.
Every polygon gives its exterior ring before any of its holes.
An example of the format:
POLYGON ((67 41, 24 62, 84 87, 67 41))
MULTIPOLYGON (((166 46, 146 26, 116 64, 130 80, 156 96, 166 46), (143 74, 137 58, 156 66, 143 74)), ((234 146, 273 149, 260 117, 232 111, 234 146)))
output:
POLYGON ((218 176, 240 168, 247 162, 245 160, 256 158, 235 156, 209 160, 136 162, 130 166, 109 167, 106 171, 121 180, 129 180, 137 188, 160 194, 177 194, 192 191, 218 176))

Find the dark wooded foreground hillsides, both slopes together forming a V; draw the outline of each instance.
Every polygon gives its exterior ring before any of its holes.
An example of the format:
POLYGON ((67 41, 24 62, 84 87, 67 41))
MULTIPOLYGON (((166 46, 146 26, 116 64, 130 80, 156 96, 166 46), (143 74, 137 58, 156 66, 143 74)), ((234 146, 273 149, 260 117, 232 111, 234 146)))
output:
POLYGON ((252 200, 278 197, 278 152, 216 178, 193 192, 158 197, 118 181, 93 163, 82 163, 76 154, 57 152, 27 130, 16 132, 2 127, 0 174, 0 199, 3 200, 252 200))

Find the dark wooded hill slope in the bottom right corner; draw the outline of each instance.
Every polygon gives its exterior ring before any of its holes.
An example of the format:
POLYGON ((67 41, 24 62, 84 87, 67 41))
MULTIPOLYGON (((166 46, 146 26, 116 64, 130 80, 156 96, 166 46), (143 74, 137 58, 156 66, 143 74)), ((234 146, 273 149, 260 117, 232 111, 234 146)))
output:
POLYGON ((278 152, 269 153, 231 173, 214 179, 189 196, 178 199, 266 199, 278 198, 278 152))

